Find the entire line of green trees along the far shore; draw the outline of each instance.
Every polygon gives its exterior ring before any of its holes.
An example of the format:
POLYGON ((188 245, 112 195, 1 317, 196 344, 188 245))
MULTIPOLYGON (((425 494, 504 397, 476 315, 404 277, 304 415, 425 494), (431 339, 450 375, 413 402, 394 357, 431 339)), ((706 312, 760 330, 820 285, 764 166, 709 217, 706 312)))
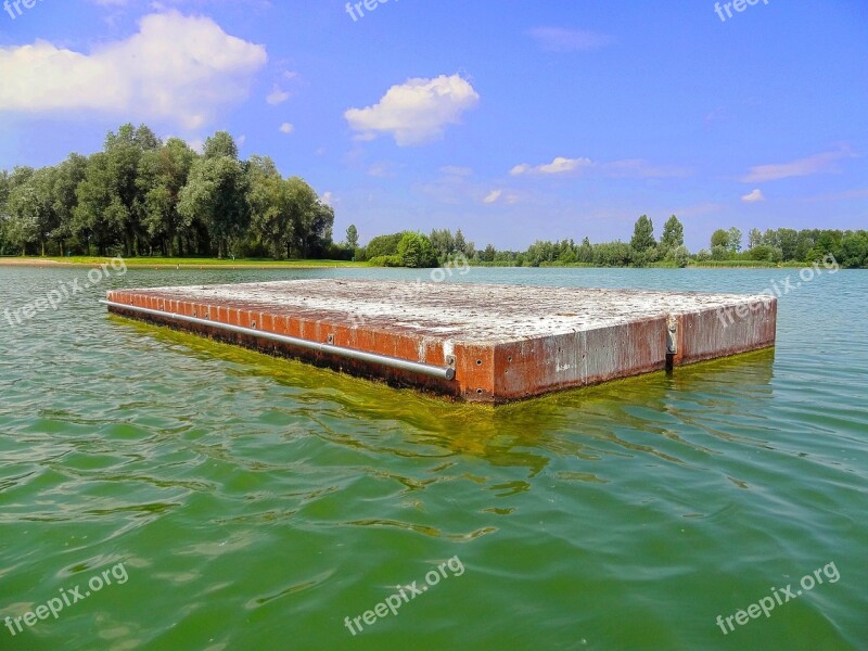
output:
POLYGON ((298 177, 284 179, 269 157, 239 159, 218 131, 199 154, 146 126, 110 131, 103 151, 72 154, 53 167, 0 173, 0 255, 124 255, 329 258, 379 266, 432 267, 457 257, 492 266, 686 267, 693 264, 809 263, 831 254, 868 268, 868 231, 719 229, 691 254, 671 216, 660 240, 642 215, 629 242, 537 241, 526 251, 477 250, 459 229, 401 231, 358 244, 350 226, 332 241, 334 212, 298 177))

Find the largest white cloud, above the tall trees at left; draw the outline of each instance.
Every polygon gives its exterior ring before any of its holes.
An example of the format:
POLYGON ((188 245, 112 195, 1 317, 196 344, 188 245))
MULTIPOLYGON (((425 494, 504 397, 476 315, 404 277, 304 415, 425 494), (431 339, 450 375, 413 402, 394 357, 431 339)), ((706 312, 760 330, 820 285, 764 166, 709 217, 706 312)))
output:
POLYGON ((267 61, 265 47, 208 17, 150 14, 137 34, 89 54, 44 40, 0 48, 0 112, 99 112, 195 129, 245 99, 267 61))

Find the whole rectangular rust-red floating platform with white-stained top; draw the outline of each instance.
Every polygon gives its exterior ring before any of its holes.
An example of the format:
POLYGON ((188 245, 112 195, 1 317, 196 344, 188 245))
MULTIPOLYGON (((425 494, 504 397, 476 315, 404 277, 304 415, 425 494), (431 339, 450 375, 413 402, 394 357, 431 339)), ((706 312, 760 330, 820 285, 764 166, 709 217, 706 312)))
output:
POLYGON ((115 290, 112 312, 458 399, 506 403, 775 345, 777 301, 317 279, 115 290))

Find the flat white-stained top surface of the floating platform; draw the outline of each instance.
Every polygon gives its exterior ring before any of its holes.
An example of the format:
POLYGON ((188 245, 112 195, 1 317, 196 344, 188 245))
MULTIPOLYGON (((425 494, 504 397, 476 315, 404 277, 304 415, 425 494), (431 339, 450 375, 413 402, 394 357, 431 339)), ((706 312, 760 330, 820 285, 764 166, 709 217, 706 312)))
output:
POLYGON ((314 279, 120 290, 120 293, 456 341, 516 341, 707 309, 773 302, 762 295, 314 279))

